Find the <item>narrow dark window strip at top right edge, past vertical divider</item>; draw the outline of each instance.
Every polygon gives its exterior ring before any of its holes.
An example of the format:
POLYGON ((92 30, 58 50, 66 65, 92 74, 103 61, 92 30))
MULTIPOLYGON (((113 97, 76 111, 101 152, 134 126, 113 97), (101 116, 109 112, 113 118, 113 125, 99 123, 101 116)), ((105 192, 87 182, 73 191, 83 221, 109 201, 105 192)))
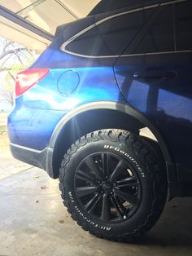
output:
POLYGON ((177 51, 192 50, 192 2, 176 4, 177 51))

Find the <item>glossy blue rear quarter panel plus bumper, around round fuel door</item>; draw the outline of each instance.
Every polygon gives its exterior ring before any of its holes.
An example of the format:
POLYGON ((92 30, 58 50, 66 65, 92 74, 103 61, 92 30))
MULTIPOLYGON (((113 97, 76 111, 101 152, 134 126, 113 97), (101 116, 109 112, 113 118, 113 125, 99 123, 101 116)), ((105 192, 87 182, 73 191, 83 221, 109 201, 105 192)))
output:
POLYGON ((16 99, 15 109, 8 118, 11 143, 42 150, 49 146, 59 120, 73 108, 94 101, 124 103, 113 69, 109 67, 73 68, 80 77, 79 85, 73 90, 71 83, 72 93, 63 95, 58 81, 68 70, 71 69, 50 69, 37 85, 16 99))

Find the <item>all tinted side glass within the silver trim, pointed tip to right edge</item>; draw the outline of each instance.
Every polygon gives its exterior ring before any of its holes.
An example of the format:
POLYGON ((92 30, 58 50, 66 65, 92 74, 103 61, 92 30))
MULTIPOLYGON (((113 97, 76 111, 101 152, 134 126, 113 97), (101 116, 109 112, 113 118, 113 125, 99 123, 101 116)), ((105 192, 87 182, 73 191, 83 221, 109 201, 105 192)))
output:
POLYGON ((106 20, 82 33, 65 49, 85 56, 192 50, 192 1, 170 3, 158 8, 159 17, 142 39, 132 43, 133 47, 129 47, 129 43, 134 42, 135 36, 142 31, 156 8, 129 12, 106 20))

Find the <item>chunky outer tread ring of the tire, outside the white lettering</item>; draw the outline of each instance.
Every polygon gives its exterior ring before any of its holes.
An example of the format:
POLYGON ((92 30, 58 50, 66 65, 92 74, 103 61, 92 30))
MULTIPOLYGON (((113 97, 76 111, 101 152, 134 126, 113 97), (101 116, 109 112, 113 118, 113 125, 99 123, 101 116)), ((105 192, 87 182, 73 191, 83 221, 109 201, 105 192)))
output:
POLYGON ((87 143, 94 143, 95 141, 106 138, 110 139, 112 142, 124 142, 129 145, 129 147, 132 148, 135 156, 142 157, 142 161, 146 162, 146 165, 148 166, 146 170, 153 166, 153 168, 150 168, 153 170, 150 172, 150 177, 154 198, 152 201, 150 213, 146 216, 145 221, 140 226, 138 226, 137 229, 133 230, 133 232, 125 233, 122 236, 111 236, 110 234, 104 236, 99 232, 94 232, 93 230, 89 230, 89 233, 110 241, 133 241, 137 236, 140 236, 143 233, 149 231, 151 227, 154 226, 156 220, 159 218, 159 215, 164 209, 164 203, 167 198, 167 177, 165 174, 164 159, 159 154, 159 152, 157 152, 155 148, 153 148, 151 144, 145 139, 142 139, 142 137, 138 135, 133 135, 128 131, 113 129, 97 130, 89 133, 88 135, 85 135, 81 139, 78 139, 76 143, 72 144, 72 146, 68 149, 68 152, 63 157, 63 161, 59 170, 59 189, 61 191, 63 204, 67 207, 68 213, 71 214, 72 218, 76 221, 76 223, 78 223, 78 225, 80 225, 85 231, 88 231, 86 223, 81 223, 81 220, 78 219, 76 212, 73 211, 70 207, 70 203, 65 193, 65 170, 70 159, 79 148, 84 147, 87 143))

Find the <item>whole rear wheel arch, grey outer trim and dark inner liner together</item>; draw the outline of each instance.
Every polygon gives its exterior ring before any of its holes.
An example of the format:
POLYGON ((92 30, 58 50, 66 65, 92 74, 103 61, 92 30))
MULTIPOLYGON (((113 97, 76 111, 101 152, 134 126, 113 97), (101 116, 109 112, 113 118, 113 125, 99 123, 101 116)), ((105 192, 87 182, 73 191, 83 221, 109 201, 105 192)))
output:
POLYGON ((168 179, 175 182, 176 170, 171 153, 168 150, 166 141, 153 121, 128 104, 111 101, 82 105, 73 109, 59 121, 50 139, 50 148, 54 148, 52 164, 55 178, 59 176, 59 166, 63 154, 81 136, 94 130, 107 128, 138 132, 143 127, 147 127, 155 136, 159 143, 159 148, 164 155, 168 179))

